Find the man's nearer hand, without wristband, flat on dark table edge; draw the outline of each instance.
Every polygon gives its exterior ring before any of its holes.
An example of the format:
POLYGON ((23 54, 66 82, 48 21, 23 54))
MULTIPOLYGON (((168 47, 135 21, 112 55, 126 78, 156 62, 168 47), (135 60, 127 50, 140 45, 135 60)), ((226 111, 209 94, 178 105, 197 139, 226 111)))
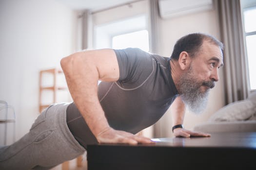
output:
POLYGON ((96 137, 99 143, 126 143, 136 145, 138 143, 155 143, 150 138, 136 136, 128 132, 118 131, 113 128, 108 128, 98 134, 96 137))

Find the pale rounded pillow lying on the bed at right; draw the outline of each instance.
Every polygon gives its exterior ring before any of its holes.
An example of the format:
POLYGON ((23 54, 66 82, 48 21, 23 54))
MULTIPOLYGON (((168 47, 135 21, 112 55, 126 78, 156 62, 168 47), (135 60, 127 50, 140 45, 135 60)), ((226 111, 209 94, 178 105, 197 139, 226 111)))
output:
POLYGON ((256 104, 250 100, 243 100, 230 103, 215 114, 208 121, 234 121, 246 120, 256 113, 256 104))

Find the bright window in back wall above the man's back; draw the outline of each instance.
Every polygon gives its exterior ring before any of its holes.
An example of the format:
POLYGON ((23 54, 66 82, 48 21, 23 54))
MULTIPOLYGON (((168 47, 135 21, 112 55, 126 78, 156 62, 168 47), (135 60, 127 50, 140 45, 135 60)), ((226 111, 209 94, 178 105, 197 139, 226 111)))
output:
POLYGON ((96 25, 94 32, 95 49, 125 49, 134 47, 149 51, 146 15, 129 17, 103 25, 96 25))

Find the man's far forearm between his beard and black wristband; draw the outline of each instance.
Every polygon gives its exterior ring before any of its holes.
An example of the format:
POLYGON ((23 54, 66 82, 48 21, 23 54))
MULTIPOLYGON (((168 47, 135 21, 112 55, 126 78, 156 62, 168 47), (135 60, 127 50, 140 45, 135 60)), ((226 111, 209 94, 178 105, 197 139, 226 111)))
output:
POLYGON ((183 124, 185 116, 185 105, 180 99, 180 97, 177 97, 176 100, 171 105, 171 113, 173 118, 173 126, 177 124, 183 124))

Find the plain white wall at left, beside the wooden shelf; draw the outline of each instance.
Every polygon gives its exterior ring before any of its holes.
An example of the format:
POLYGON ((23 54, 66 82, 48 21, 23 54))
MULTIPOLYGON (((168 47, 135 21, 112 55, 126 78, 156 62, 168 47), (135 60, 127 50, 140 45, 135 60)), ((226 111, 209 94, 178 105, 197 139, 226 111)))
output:
POLYGON ((76 22, 55 0, 0 0, 0 100, 16 110, 16 139, 38 116, 39 70, 76 50, 76 22))

